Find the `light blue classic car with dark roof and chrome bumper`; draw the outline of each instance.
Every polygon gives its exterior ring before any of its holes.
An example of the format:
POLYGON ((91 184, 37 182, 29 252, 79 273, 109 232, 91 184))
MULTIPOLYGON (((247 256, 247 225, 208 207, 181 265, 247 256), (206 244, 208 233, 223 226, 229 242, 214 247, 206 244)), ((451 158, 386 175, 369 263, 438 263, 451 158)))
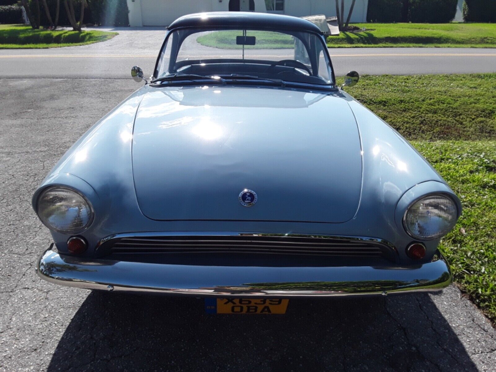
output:
MULTIPOLYGON (((131 75, 145 80, 139 67, 131 75)), ((343 86, 358 79, 352 71, 343 86)), ((343 86, 307 20, 179 18, 150 80, 34 193, 54 240, 38 275, 223 298, 232 312, 250 312, 239 308, 249 299, 447 286, 437 246, 460 216, 458 197, 343 86)))

